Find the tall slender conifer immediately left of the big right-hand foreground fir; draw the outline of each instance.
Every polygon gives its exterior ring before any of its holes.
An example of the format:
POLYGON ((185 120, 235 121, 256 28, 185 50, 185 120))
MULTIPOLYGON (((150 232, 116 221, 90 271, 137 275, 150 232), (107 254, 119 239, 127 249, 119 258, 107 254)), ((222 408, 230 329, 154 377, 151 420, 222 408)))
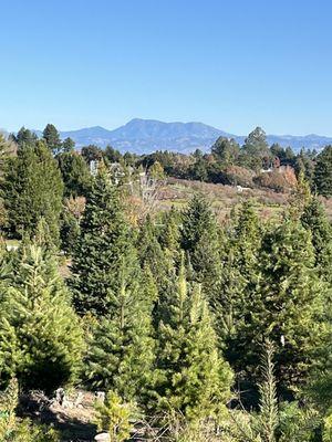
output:
POLYGON ((248 201, 232 212, 232 220, 225 225, 220 240, 222 269, 212 308, 217 332, 230 362, 242 352, 238 348, 239 327, 248 313, 249 294, 257 283, 261 232, 261 223, 248 201))

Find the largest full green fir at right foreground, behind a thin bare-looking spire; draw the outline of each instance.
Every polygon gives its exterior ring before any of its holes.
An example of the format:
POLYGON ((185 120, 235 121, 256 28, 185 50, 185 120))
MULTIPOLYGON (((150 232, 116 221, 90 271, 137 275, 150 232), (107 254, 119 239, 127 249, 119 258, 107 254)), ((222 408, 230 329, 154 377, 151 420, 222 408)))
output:
POLYGON ((256 376, 259 343, 276 346, 280 391, 292 392, 318 362, 317 348, 328 339, 323 299, 326 285, 314 269, 310 233, 299 222, 284 221, 263 236, 257 285, 248 292, 239 328, 237 371, 256 376))

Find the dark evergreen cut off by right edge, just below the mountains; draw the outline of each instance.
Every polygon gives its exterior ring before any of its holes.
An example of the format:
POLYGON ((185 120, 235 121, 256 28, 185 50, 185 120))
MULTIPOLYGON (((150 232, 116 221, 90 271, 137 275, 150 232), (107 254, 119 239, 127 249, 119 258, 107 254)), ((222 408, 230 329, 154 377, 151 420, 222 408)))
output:
POLYGON ((332 146, 326 146, 317 157, 313 189, 323 197, 332 196, 332 146))

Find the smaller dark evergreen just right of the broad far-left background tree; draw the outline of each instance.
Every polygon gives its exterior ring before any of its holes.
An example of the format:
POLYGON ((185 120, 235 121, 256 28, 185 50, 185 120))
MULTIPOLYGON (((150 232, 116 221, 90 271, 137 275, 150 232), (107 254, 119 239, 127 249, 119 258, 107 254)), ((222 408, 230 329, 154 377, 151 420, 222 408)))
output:
POLYGON ((64 196, 84 196, 91 185, 91 173, 83 157, 74 151, 65 151, 58 155, 56 159, 64 183, 64 196))

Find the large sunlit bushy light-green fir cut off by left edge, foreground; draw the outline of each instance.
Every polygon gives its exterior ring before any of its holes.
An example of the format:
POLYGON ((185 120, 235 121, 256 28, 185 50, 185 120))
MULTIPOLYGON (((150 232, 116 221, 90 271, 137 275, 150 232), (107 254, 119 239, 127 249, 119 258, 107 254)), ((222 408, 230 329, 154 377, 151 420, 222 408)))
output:
POLYGON ((82 350, 81 326, 56 261, 25 245, 2 288, 1 381, 14 376, 23 389, 51 392, 76 377, 82 350))

